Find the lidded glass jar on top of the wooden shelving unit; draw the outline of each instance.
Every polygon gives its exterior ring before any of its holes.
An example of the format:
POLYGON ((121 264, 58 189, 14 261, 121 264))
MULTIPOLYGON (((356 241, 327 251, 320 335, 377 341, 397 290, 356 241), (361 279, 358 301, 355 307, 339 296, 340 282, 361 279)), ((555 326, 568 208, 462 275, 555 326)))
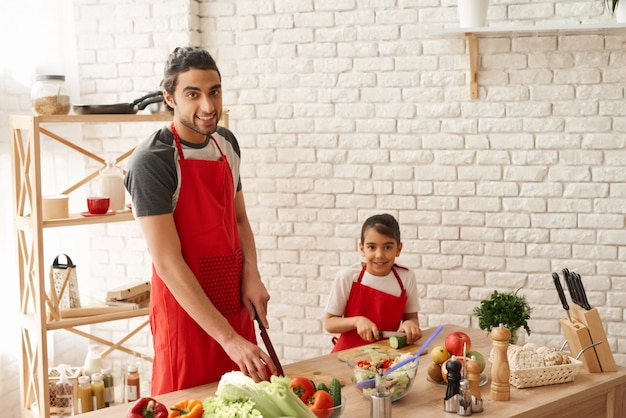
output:
POLYGON ((70 93, 64 75, 38 75, 30 97, 33 112, 37 115, 70 113, 70 93))

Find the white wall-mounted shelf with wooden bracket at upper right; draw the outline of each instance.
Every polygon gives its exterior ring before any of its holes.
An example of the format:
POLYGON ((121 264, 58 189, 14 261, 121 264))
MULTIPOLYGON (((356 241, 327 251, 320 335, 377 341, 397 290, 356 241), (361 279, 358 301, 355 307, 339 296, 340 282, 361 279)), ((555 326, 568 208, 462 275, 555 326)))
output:
POLYGON ((573 36, 573 35, 621 35, 626 36, 626 24, 579 24, 560 26, 487 26, 480 28, 438 28, 425 29, 428 37, 467 39, 469 50, 470 97, 478 98, 478 39, 479 38, 522 38, 533 36, 573 36))

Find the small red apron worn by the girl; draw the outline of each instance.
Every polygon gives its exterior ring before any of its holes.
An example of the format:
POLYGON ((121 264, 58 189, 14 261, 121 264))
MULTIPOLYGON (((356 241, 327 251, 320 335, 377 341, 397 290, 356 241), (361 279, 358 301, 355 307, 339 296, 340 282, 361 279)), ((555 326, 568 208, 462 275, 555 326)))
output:
MULTIPOLYGON (((400 285, 400 296, 390 295, 380 290, 361 284, 363 274, 365 274, 365 264, 359 275, 359 279, 352 283, 348 302, 346 303, 346 313, 344 317, 365 316, 374 322, 380 331, 395 331, 400 326, 404 316, 404 307, 408 296, 402 285, 402 280, 396 272, 395 266, 391 268, 398 285, 400 285)), ((333 353, 369 344, 356 332, 356 329, 342 333, 333 347, 333 353)))

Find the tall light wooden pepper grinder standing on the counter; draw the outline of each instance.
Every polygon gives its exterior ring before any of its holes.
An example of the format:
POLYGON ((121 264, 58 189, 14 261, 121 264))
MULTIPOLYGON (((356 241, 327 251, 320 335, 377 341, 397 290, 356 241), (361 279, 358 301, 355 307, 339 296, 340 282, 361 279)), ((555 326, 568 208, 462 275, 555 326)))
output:
POLYGON ((511 399, 509 377, 509 339, 511 331, 500 324, 491 330, 493 340, 493 363, 491 365, 491 399, 494 401, 508 401, 511 399))

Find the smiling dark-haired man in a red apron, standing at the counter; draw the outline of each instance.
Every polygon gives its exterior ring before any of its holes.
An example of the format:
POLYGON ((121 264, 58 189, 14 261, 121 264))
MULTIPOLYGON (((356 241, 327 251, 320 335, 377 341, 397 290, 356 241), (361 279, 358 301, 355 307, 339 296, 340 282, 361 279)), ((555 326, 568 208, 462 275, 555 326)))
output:
POLYGON ((133 153, 125 177, 152 256, 152 395, 213 382, 241 370, 255 381, 276 373, 256 344, 269 294, 239 178, 235 136, 218 127, 221 75, 200 48, 177 48, 165 66, 171 124, 133 153))

